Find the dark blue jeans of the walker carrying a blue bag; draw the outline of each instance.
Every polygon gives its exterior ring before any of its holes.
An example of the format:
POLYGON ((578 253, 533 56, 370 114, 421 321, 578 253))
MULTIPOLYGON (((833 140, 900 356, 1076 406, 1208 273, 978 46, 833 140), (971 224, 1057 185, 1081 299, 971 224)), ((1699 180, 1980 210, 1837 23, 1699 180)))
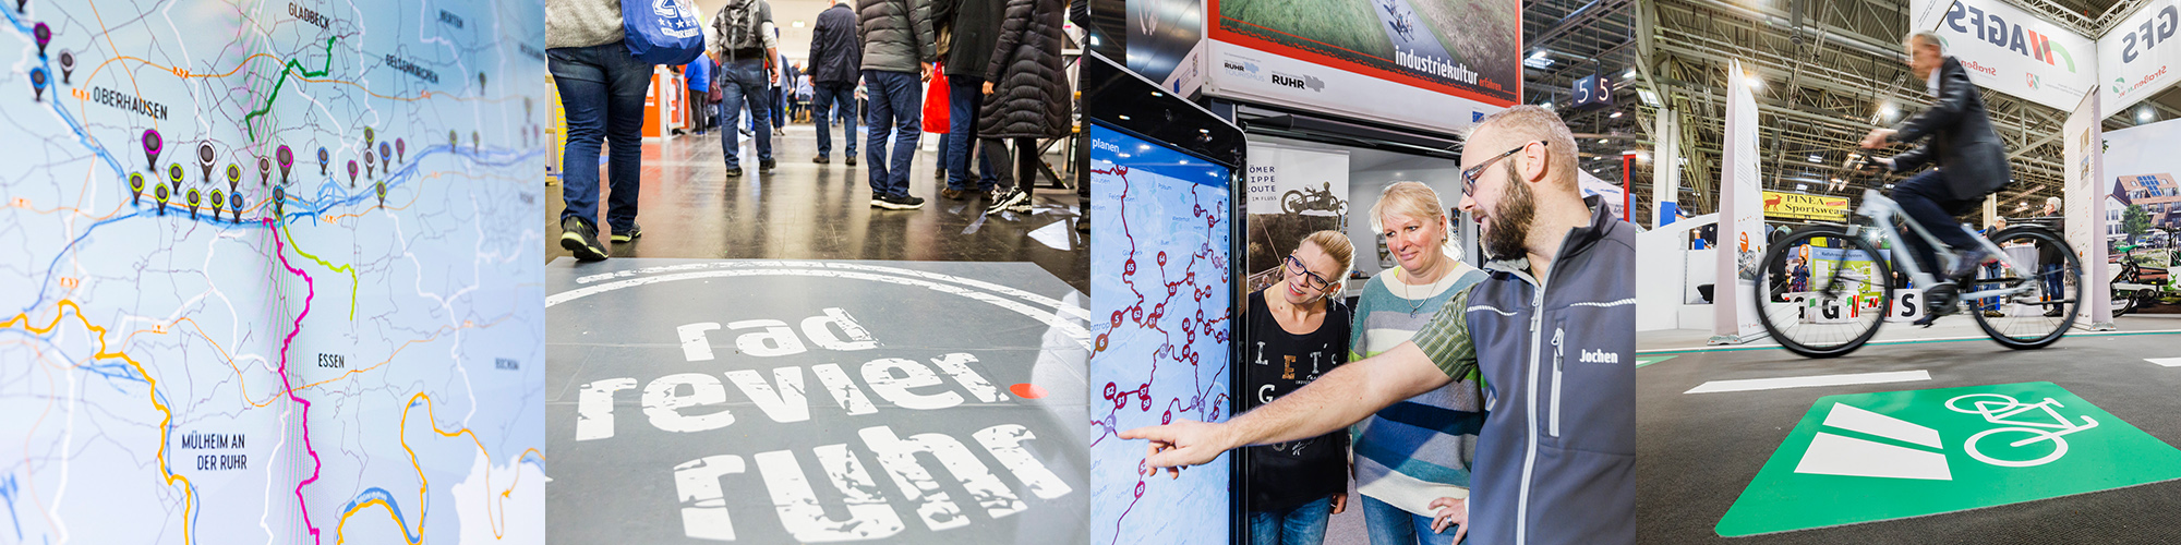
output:
POLYGON ((598 148, 611 144, 606 225, 637 225, 637 187, 643 181, 643 94, 652 65, 639 63, 622 41, 545 50, 561 107, 567 109, 567 148, 561 155, 561 220, 598 227, 598 148))

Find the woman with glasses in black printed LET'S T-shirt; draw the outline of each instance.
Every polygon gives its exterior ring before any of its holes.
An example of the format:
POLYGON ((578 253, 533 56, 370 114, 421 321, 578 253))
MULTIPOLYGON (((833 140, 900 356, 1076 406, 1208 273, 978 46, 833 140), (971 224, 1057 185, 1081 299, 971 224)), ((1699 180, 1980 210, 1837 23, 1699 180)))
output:
MULTIPOLYGON (((1287 255, 1280 281, 1250 294, 1243 410, 1348 362, 1348 307, 1339 294, 1352 257, 1341 231, 1311 233, 1287 255)), ((1250 543, 1324 543, 1326 521, 1348 508, 1348 434, 1248 447, 1243 456, 1250 456, 1250 543)))

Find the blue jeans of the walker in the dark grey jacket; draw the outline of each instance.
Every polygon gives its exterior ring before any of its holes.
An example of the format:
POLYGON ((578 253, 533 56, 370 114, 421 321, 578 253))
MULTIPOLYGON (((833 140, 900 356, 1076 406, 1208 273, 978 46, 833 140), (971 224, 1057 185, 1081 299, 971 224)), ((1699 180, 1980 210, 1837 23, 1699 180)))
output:
POLYGON ((923 140, 925 87, 916 72, 864 70, 864 85, 870 94, 870 126, 864 159, 870 164, 870 194, 909 196, 909 161, 916 159, 916 140, 923 140), (885 137, 892 126, 894 161, 885 161, 885 137))

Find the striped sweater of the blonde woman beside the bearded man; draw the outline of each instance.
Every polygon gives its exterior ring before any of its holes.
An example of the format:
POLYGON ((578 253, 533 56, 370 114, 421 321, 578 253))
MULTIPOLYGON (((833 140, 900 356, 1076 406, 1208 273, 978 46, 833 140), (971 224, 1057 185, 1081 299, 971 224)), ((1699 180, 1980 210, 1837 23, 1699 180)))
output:
MULTIPOLYGON (((1461 262, 1435 286, 1409 286, 1396 279, 1400 275, 1407 272, 1391 268, 1363 286, 1350 329, 1350 362, 1400 347, 1431 323, 1439 305, 1485 279, 1481 268, 1461 262)), ((1463 382, 1474 382, 1474 375, 1463 382)), ((1468 497, 1477 429, 1485 416, 1477 392, 1474 384, 1450 384, 1357 423, 1350 429, 1357 491, 1424 517, 1433 514, 1433 499, 1468 497)))

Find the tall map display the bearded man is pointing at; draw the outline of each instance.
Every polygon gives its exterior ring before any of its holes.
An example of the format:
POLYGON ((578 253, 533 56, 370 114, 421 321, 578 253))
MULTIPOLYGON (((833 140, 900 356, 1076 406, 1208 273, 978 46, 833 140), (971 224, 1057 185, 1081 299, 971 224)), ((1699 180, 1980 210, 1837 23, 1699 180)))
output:
POLYGON ((1090 126, 1090 543, 1228 543, 1228 456, 1145 475, 1119 432, 1226 421, 1230 170, 1090 126))

